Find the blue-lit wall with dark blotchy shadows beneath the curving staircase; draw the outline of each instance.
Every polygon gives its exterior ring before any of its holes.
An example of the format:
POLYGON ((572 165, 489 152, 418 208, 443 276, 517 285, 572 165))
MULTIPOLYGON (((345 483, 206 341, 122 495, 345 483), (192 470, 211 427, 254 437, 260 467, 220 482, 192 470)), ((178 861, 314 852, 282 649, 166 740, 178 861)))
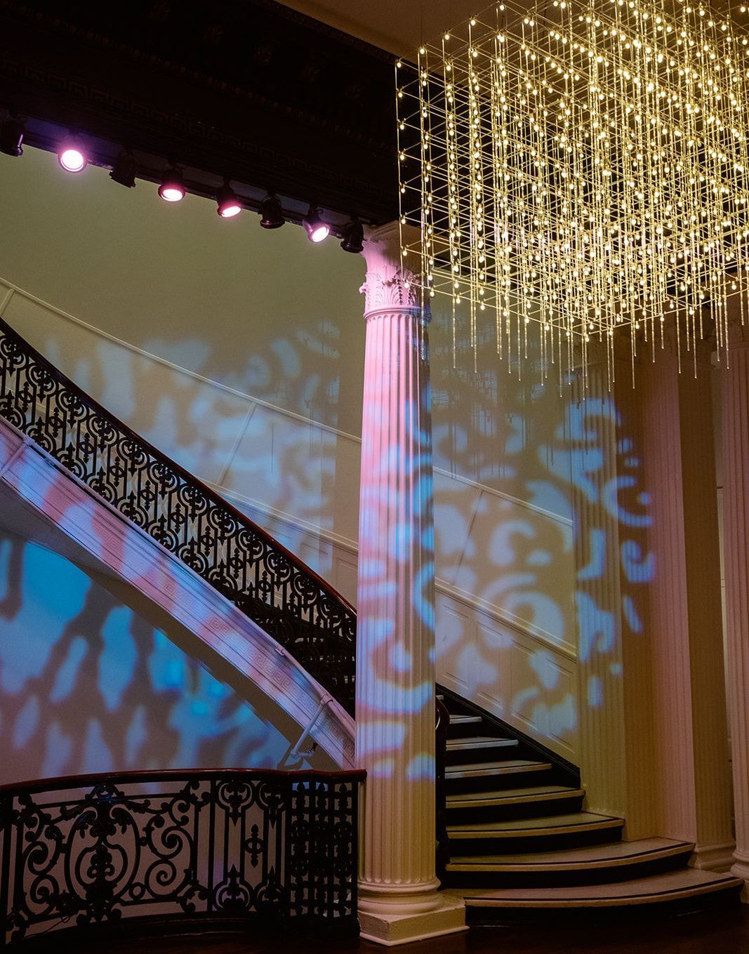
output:
POLYGON ((294 740, 90 573, 0 531, 0 783, 275 768, 294 740))

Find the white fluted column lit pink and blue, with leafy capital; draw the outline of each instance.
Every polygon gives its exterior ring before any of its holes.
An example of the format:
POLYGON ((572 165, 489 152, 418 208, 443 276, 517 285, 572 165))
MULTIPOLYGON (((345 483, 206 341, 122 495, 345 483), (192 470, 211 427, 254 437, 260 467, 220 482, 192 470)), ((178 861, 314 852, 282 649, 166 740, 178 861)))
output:
POLYGON ((364 319, 356 757, 366 769, 359 919, 402 944, 465 927, 437 892, 434 553, 428 310, 398 226, 370 233, 364 319))

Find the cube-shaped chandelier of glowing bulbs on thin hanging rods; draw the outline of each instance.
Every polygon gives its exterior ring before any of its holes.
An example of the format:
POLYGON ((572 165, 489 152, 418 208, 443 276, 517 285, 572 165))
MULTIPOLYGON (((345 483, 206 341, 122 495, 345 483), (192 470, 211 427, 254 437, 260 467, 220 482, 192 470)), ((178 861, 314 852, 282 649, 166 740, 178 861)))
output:
POLYGON ((678 0, 497 3, 399 61, 401 222, 421 235, 402 228, 402 255, 451 297, 453 341, 468 321, 475 353, 486 317, 519 366, 534 333, 560 383, 589 342, 612 368, 619 326, 655 353, 676 322, 695 351, 714 321, 724 351, 749 269, 747 66, 736 24, 678 0))

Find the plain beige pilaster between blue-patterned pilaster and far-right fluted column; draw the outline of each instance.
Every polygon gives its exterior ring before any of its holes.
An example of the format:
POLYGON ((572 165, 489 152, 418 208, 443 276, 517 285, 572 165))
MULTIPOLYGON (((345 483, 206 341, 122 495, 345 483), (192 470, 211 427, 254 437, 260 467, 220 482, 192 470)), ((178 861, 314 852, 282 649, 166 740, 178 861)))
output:
POLYGON ((718 503, 709 342, 676 337, 639 362, 648 535, 658 834, 696 843, 692 863, 721 869, 733 851, 725 717, 718 503), (683 346, 683 344, 682 344, 683 346))

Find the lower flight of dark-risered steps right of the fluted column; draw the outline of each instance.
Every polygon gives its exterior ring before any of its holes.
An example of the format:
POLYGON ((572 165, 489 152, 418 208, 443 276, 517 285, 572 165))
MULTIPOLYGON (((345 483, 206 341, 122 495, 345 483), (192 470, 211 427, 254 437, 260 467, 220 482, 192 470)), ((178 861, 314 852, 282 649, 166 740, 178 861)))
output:
POLYGON ((624 819, 584 810, 577 770, 466 700, 449 712, 445 887, 469 924, 676 914, 739 902, 743 881, 687 867, 694 844, 623 841, 624 819))

